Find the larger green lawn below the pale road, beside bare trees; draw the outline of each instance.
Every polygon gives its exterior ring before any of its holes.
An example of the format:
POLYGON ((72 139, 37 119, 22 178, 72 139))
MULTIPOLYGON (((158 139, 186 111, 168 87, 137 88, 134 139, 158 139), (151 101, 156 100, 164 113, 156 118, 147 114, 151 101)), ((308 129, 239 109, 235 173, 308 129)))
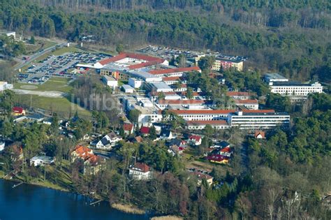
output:
POLYGON ((71 103, 67 98, 48 98, 36 95, 17 95, 18 103, 30 106, 32 108, 41 108, 44 110, 57 112, 61 117, 68 117, 70 114, 74 115, 76 110, 81 117, 91 117, 91 112, 80 108, 75 103, 71 103))

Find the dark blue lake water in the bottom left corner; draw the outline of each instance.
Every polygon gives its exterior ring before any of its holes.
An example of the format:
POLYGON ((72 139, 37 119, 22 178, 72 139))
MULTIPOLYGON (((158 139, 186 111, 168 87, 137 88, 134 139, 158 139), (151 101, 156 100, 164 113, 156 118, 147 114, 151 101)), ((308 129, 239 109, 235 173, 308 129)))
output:
POLYGON ((0 220, 14 219, 115 219, 147 220, 147 215, 126 214, 102 202, 89 205, 91 199, 41 186, 22 184, 12 189, 14 182, 0 179, 0 220))

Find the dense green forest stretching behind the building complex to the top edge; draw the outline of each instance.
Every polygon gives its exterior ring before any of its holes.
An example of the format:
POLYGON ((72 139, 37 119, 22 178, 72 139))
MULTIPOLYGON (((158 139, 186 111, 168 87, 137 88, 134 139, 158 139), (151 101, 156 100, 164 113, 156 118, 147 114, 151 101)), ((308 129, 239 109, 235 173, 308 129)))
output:
POLYGON ((0 28, 69 41, 92 34, 98 43, 110 46, 155 43, 210 49, 249 57, 247 68, 330 82, 330 1, 34 3, 2 1, 0 28), (223 9, 214 12, 215 6, 223 9), (253 22, 251 16, 263 17, 263 21, 253 22))

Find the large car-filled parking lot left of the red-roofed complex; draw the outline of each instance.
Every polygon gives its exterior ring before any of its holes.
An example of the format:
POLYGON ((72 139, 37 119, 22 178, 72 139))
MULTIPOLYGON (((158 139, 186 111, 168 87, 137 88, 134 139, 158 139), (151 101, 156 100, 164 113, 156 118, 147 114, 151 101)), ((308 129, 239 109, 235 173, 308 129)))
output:
POLYGON ((51 76, 73 78, 75 74, 71 72, 77 64, 95 64, 108 57, 110 55, 82 52, 65 53, 60 56, 50 55, 37 64, 31 64, 27 71, 18 75, 18 80, 22 83, 43 84, 51 76))

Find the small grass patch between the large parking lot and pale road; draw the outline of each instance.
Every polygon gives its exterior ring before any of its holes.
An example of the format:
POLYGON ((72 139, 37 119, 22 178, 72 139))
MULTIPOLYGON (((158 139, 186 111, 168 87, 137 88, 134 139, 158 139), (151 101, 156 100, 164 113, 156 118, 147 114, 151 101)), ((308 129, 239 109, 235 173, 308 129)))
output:
POLYGON ((31 85, 27 83, 15 83, 14 89, 26 89, 24 86, 34 86, 35 89, 29 89, 29 90, 35 90, 35 91, 63 91, 66 93, 70 93, 73 89, 70 85, 68 85, 68 81, 70 79, 68 78, 59 78, 54 77, 50 78, 47 82, 43 83, 43 85, 31 85))

